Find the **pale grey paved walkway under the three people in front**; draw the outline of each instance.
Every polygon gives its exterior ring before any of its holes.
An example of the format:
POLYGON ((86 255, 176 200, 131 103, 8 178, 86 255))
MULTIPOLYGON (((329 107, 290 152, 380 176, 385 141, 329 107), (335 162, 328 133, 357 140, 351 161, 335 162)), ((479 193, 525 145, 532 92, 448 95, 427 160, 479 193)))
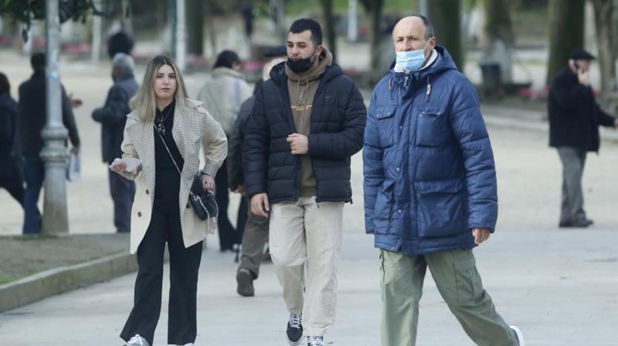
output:
MULTIPOLYGON (((560 167, 540 132, 491 128, 500 216, 494 236, 476 250, 486 289, 502 316, 525 332, 528 345, 618 344, 618 146, 586 163, 585 197, 595 227, 558 230, 560 167)), ((362 234, 360 157, 353 159, 355 203, 345 209, 337 322, 332 345, 379 344, 378 253, 362 234)), ((218 243, 214 238, 211 244, 218 243)), ((256 281, 256 297, 235 293, 230 253, 206 250, 198 296, 198 345, 285 345, 287 313, 273 266, 256 281)), ((167 267, 166 267, 167 270, 167 267)), ((0 314, 2 345, 119 345, 135 274, 0 314)), ((165 283, 167 285, 167 282, 165 283)), ((167 286, 166 286, 167 290, 167 286)), ((164 296, 164 305, 167 296, 164 296)), ((164 308, 155 337, 166 340, 164 308)), ((418 345, 472 345, 428 276, 418 345)))

